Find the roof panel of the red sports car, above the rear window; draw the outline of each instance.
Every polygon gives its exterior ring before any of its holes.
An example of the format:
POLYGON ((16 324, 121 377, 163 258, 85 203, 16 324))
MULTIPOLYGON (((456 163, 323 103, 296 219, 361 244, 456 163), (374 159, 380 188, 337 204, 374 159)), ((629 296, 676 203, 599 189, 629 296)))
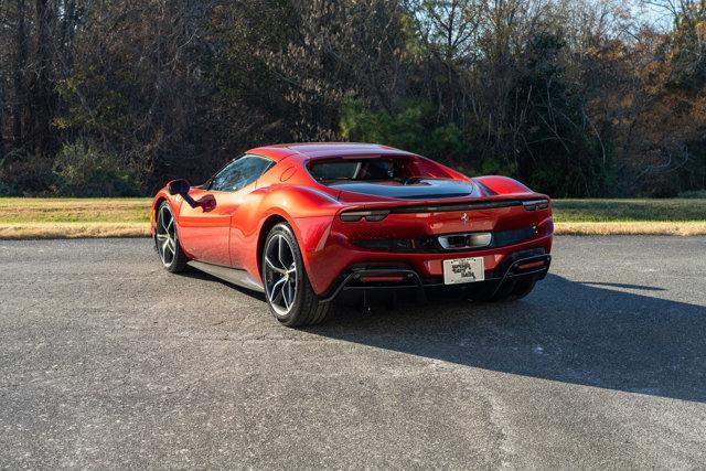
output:
POLYGON ((298 157, 302 160, 356 157, 356 156, 415 156, 411 152, 377 143, 362 142, 302 142, 264 146, 250 149, 247 153, 268 157, 280 161, 286 157, 298 157))

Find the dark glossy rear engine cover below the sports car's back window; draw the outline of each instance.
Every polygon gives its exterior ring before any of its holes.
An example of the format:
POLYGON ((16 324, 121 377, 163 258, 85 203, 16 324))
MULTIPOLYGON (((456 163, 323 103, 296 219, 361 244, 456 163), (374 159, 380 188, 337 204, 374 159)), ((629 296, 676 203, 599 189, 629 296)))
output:
POLYGON ((481 196, 472 182, 447 179, 421 179, 409 183, 398 182, 336 182, 329 185, 339 190, 339 200, 353 202, 361 195, 396 200, 443 200, 452 197, 481 196))

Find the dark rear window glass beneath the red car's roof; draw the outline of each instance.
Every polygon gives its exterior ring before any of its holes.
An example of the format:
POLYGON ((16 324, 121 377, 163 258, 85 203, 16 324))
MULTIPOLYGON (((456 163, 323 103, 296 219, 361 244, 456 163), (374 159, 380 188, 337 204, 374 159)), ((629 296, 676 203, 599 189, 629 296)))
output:
POLYGON ((309 172, 321 183, 404 181, 410 176, 407 159, 335 159, 313 161, 309 172))

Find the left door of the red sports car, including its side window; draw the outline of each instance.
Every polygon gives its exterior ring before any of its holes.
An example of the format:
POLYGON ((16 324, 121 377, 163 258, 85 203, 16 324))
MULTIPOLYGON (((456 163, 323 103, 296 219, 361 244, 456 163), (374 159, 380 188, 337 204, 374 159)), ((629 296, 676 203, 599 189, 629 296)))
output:
POLYGON ((192 189, 196 207, 182 204, 180 237, 188 255, 199 261, 233 266, 231 259, 231 224, 243 197, 254 182, 274 162, 260 156, 245 154, 235 159, 203 189, 192 189))

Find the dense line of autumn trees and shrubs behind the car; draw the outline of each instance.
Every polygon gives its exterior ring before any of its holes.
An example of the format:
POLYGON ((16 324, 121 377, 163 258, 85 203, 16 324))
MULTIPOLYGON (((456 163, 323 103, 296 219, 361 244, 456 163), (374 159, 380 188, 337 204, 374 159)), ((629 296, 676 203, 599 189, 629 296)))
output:
POLYGON ((372 141, 553 196, 706 189, 706 1, 2 0, 0 195, 372 141))

